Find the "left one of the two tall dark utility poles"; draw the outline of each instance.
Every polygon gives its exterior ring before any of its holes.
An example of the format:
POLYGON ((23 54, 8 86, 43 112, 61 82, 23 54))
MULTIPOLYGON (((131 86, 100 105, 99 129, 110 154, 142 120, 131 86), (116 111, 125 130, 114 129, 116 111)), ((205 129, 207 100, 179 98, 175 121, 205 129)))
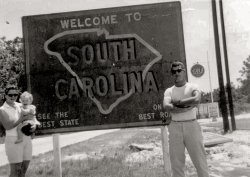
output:
POLYGON ((216 10, 215 0, 212 0, 212 14, 213 14, 214 42, 215 42, 215 52, 216 52, 216 61, 217 61, 217 70, 218 70, 218 80, 219 80, 219 87, 220 87, 219 107, 220 107, 222 118, 223 118, 224 133, 227 133, 229 130, 229 121, 228 121, 227 101, 226 101, 224 79, 223 79, 223 72, 222 72, 222 65, 221 65, 220 40, 219 40, 219 30, 218 30, 217 10, 216 10))

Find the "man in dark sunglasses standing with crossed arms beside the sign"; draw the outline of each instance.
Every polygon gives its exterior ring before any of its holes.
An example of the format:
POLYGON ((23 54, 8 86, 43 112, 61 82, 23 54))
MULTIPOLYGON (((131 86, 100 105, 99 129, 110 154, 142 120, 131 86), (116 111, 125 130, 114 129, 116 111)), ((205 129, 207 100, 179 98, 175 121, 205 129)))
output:
POLYGON ((200 102, 197 85, 186 81, 185 66, 179 61, 171 65, 174 85, 166 89, 163 106, 171 112, 169 153, 173 177, 185 177, 185 148, 198 177, 209 177, 201 127, 196 121, 195 107, 200 102))

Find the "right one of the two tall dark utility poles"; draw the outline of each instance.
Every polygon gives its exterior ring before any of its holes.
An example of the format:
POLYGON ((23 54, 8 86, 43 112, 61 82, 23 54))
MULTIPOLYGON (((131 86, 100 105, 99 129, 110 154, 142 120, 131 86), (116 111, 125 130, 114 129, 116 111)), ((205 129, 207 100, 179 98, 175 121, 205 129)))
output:
POLYGON ((234 105, 233 97, 231 91, 231 81, 229 75, 229 66, 228 66, 228 56, 227 56, 227 43, 226 43, 226 33, 225 33, 225 24, 224 24, 224 15, 223 15, 223 4, 222 0, 220 2, 220 17, 221 17, 221 30, 222 30, 222 41, 223 41, 223 50, 225 56, 225 69, 226 69, 226 78, 227 78, 227 96, 229 102, 229 113, 231 117, 232 130, 236 130, 235 117, 234 117, 234 105))

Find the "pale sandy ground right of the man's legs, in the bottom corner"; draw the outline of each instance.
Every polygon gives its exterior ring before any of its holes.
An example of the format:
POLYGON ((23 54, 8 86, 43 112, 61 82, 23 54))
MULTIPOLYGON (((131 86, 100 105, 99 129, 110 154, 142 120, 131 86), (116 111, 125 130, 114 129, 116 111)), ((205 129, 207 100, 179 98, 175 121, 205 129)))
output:
POLYGON ((250 131, 237 130, 224 135, 233 142, 206 148, 214 177, 250 177, 250 131))

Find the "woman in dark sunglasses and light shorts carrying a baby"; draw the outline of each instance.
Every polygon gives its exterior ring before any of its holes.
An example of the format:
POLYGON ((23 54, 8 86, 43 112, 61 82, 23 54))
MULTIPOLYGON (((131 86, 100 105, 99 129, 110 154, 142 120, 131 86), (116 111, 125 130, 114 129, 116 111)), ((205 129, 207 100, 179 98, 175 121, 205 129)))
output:
MULTIPOLYGON (((0 107, 0 121, 6 129, 5 151, 10 163, 10 177, 25 177, 30 160, 32 158, 31 137, 23 135, 22 142, 18 139, 17 126, 25 120, 31 120, 34 115, 22 114, 22 104, 16 102, 19 90, 10 85, 5 89, 6 101, 0 107)), ((35 131, 35 125, 31 126, 35 131)))

